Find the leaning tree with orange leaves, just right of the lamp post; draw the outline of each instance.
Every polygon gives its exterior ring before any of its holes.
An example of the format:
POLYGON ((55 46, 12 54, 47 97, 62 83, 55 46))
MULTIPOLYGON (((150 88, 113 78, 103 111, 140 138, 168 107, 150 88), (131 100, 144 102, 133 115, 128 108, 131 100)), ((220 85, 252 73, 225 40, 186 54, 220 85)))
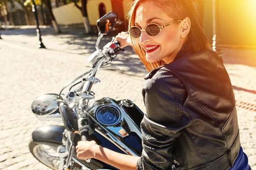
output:
MULTIPOLYGON (((51 5, 51 0, 35 0, 35 4, 36 5, 42 5, 42 4, 45 4, 45 6, 47 7, 47 9, 49 10, 50 14, 49 14, 49 17, 51 19, 51 22, 52 22, 52 26, 53 28, 55 29, 55 32, 57 34, 60 34, 61 33, 61 29, 60 29, 60 26, 58 25, 57 21, 55 20, 55 17, 52 13, 52 5, 51 5)), ((32 2, 31 0, 26 0, 24 2, 24 6, 31 6, 32 5, 32 2)))

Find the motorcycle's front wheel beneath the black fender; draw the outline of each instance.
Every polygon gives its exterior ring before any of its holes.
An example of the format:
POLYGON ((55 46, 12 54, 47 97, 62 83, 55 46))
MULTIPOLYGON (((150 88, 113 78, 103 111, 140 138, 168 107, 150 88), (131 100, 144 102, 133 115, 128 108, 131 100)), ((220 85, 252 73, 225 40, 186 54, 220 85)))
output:
POLYGON ((41 163, 53 170, 58 170, 60 158, 57 155, 57 148, 60 144, 53 143, 37 143, 31 141, 29 143, 29 150, 32 155, 41 163))

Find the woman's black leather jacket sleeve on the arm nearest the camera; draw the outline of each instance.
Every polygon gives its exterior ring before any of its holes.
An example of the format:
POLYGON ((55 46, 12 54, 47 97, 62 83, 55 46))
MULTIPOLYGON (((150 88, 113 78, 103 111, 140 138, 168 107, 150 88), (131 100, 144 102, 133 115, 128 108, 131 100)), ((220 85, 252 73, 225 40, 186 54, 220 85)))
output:
MULTIPOLYGON (((169 169, 174 161, 175 139, 191 122, 171 88, 160 79, 145 82, 143 99, 146 114, 141 122, 143 152, 137 161, 137 170, 169 169)), ((181 90, 182 93, 180 89, 176 90, 179 95, 185 95, 186 90, 181 90)))

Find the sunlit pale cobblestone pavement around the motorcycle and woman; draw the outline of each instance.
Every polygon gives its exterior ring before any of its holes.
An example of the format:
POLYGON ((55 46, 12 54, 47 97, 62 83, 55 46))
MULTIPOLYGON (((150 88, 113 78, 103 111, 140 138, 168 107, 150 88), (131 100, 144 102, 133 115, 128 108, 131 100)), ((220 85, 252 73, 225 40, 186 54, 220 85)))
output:
MULTIPOLYGON (((38 49, 34 28, 1 30, 0 40, 0 170, 49 169, 29 152, 31 133, 42 125, 30 105, 41 94, 58 93, 70 80, 89 70, 87 58, 94 51, 96 36, 63 28, 64 34, 42 29, 44 45, 38 49)), ((102 44, 109 41, 109 37, 102 44)), ((131 99, 144 112, 141 88, 144 66, 126 48, 96 75, 101 80, 92 91, 96 99, 131 99)), ((241 145, 256 170, 256 50, 223 48, 224 63, 236 95, 241 145)))

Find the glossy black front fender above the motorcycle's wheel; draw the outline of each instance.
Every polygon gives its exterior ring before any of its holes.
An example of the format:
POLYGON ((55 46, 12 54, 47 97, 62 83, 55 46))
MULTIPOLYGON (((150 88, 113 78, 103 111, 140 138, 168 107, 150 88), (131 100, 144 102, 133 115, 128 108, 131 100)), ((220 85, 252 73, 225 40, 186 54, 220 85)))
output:
POLYGON ((62 144, 62 133, 64 130, 64 126, 42 126, 32 132, 32 140, 39 143, 50 142, 55 144, 62 144))

